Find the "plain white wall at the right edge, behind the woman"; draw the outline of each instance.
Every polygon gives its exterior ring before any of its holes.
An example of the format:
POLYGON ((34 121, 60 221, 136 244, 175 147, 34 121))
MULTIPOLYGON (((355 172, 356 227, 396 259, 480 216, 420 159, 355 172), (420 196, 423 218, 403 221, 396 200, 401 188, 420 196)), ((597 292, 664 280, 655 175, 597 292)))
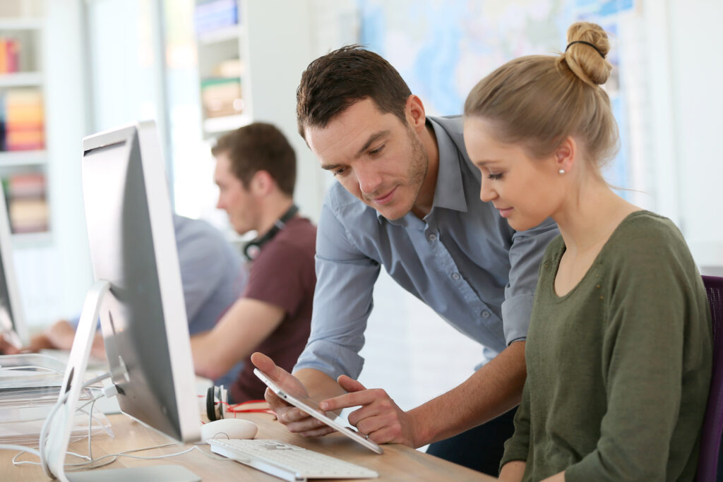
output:
MULTIPOLYGON (((678 212, 693 256, 703 267, 723 267, 723 2, 667 0, 678 212)), ((651 79, 659 82, 659 79, 651 79)), ((665 197, 667 193, 659 193, 665 197)))

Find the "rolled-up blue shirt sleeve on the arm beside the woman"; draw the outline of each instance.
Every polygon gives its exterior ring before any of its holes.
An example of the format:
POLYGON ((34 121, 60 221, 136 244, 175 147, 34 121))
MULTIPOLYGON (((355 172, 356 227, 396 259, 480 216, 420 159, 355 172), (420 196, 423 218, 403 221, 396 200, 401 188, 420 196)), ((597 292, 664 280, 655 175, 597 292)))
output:
POLYGON ((508 345, 527 338, 539 265, 545 248, 559 234, 555 221, 547 218, 535 228, 512 236, 510 282, 502 302, 502 327, 508 345))

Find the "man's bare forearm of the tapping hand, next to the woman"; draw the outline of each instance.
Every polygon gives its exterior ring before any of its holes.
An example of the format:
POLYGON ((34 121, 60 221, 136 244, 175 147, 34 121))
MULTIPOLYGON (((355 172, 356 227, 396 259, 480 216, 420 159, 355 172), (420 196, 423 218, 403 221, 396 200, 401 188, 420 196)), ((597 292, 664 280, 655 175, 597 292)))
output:
POLYGON ((463 384, 410 410, 416 446, 460 434, 515 407, 526 373, 525 343, 515 342, 463 384))

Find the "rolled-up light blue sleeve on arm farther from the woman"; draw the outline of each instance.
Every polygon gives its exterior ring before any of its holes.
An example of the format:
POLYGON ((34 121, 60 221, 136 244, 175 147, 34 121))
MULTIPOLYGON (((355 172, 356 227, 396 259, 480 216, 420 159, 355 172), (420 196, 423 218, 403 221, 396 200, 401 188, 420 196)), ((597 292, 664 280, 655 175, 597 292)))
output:
POLYGON ((327 204, 317 230, 316 272, 311 335, 294 371, 317 369, 333 379, 341 374, 357 378, 380 264, 354 246, 327 204))

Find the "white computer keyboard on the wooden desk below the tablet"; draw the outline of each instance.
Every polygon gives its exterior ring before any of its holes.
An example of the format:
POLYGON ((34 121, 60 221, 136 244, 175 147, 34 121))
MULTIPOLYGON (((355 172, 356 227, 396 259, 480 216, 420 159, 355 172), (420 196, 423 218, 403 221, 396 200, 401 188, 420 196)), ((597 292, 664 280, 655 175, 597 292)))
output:
POLYGON ((307 478, 376 478, 374 470, 278 440, 209 439, 211 452, 286 481, 307 478))

